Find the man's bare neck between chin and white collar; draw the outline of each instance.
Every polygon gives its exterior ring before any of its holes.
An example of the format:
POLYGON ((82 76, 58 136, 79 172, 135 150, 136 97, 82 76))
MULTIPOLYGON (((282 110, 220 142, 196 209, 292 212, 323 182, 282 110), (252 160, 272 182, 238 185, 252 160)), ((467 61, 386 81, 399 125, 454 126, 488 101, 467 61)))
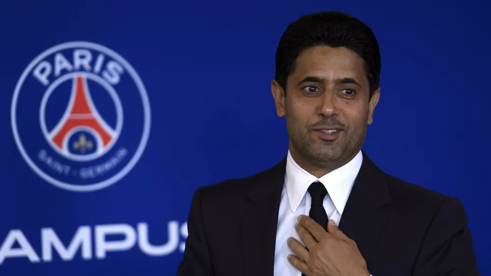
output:
POLYGON ((353 158, 355 158, 356 154, 358 154, 359 149, 357 149, 353 154, 351 154, 348 158, 342 158, 340 160, 335 160, 335 161, 330 161, 330 162, 323 162, 319 160, 311 160, 307 159, 304 156, 302 156, 300 153, 298 153, 295 148, 292 146, 290 142, 290 153, 297 162, 297 164, 306 170, 308 173, 312 174, 313 176, 317 178, 321 178, 322 176, 326 175, 327 173, 342 167, 346 165, 348 162, 350 162, 353 158))

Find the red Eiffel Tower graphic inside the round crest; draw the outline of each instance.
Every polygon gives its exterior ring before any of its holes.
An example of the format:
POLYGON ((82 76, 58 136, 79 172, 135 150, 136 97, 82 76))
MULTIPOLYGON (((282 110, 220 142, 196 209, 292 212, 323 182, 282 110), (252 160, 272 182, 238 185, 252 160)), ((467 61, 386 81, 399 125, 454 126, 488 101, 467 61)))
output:
POLYGON ((56 146, 63 149, 63 141, 66 135, 75 128, 85 127, 96 132, 102 140, 105 148, 113 139, 107 124, 102 121, 97 110, 92 108, 87 82, 85 77, 77 76, 73 80, 72 95, 70 102, 73 103, 68 117, 64 122, 58 124, 57 131, 52 135, 52 140, 56 146))

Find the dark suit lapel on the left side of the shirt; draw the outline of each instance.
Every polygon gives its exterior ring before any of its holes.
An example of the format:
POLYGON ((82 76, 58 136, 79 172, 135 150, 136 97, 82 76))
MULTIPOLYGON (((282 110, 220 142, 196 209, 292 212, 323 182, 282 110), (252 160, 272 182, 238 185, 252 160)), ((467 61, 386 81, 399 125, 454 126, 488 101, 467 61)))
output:
POLYGON ((251 205, 241 217, 241 259, 244 276, 273 275, 274 249, 286 158, 255 176, 247 198, 251 205))

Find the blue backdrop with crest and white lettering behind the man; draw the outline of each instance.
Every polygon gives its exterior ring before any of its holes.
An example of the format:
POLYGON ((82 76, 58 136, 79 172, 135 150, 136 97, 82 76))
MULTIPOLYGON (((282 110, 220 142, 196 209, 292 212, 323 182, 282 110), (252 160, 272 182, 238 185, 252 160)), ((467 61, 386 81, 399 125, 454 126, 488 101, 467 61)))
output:
POLYGON ((381 46, 364 150, 460 198, 491 275, 490 2, 475 0, 2 1, 0 275, 175 275, 193 192, 286 155, 274 53, 321 10, 381 46))

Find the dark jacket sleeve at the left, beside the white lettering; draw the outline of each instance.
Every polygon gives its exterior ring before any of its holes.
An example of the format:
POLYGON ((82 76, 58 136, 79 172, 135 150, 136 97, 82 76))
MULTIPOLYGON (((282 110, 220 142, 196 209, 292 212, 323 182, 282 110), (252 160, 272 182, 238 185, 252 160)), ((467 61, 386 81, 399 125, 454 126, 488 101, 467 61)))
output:
POLYGON ((199 188, 191 200, 188 217, 188 238, 184 257, 177 268, 177 276, 212 276, 210 255, 201 217, 201 192, 199 188))

